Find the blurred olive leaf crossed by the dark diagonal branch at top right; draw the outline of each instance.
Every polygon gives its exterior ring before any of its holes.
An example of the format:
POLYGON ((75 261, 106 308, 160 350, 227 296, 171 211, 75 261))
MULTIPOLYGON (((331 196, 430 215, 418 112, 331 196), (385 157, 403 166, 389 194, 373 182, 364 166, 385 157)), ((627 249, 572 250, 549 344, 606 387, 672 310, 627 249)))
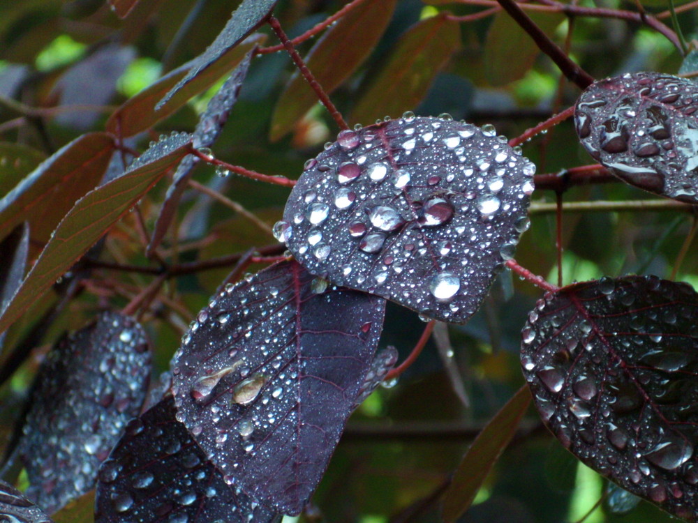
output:
MULTIPOLYGON (((549 35, 565 20, 561 13, 536 13, 528 16, 549 35)), ((540 49, 533 38, 505 11, 494 15, 484 45, 484 64, 487 79, 493 86, 505 86, 523 78, 533 67, 540 49)))

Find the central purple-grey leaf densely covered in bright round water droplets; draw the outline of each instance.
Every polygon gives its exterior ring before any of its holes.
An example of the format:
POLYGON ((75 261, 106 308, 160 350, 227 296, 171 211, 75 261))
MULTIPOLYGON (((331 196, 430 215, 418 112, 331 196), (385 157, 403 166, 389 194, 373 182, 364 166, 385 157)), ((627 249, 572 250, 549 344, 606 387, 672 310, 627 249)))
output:
POLYGON ((410 114, 307 162, 276 234, 336 285, 465 323, 528 227, 534 172, 492 126, 410 114))

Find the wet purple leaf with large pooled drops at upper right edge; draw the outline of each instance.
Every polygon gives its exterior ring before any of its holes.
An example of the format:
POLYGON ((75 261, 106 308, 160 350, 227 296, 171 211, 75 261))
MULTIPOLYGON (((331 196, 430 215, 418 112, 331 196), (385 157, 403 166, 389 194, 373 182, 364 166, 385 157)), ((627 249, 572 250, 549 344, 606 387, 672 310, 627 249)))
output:
POLYGON ((586 150, 623 181, 698 203, 698 84, 634 73, 588 86, 574 109, 586 150))

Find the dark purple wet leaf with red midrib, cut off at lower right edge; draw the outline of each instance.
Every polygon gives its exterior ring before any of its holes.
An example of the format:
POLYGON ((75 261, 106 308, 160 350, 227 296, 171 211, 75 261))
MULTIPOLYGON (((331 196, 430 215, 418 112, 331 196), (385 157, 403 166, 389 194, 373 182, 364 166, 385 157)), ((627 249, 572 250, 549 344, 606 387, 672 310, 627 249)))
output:
POLYGON ((560 442, 625 490, 686 520, 698 513, 698 294, 655 276, 547 294, 521 364, 560 442))

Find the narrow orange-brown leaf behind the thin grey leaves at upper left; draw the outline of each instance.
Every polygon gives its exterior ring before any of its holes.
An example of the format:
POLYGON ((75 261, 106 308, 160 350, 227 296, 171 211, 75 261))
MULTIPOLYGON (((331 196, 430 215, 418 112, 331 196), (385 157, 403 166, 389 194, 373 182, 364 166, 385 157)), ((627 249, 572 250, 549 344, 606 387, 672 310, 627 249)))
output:
POLYGON ((184 77, 193 66, 193 61, 170 71, 151 86, 126 100, 119 109, 114 111, 107 120, 107 131, 116 136, 128 137, 151 128, 158 121, 180 109, 190 98, 209 89, 225 73, 238 66, 247 53, 256 45, 260 45, 265 38, 266 36, 261 34, 252 35, 234 49, 221 55, 209 68, 172 96, 168 103, 156 110, 156 103, 184 77))

